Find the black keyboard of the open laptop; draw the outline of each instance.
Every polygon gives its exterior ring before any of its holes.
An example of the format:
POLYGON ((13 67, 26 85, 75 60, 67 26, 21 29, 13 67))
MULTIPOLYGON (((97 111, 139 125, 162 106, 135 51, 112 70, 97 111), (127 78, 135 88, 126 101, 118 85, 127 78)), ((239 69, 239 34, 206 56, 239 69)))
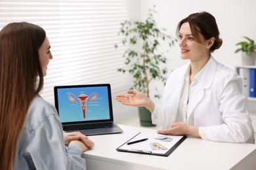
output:
POLYGON ((101 128, 110 128, 116 127, 112 122, 102 122, 102 123, 94 123, 94 124, 76 124, 76 125, 64 125, 64 131, 75 131, 81 129, 101 129, 101 128))

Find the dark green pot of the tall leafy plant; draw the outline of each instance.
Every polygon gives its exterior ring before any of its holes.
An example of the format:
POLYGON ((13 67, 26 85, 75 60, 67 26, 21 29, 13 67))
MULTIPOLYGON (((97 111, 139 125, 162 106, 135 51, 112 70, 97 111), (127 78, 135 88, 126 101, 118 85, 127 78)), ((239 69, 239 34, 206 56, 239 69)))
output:
POLYGON ((151 119, 151 112, 148 109, 145 109, 144 107, 139 107, 139 118, 140 118, 140 126, 156 126, 152 124, 151 119))

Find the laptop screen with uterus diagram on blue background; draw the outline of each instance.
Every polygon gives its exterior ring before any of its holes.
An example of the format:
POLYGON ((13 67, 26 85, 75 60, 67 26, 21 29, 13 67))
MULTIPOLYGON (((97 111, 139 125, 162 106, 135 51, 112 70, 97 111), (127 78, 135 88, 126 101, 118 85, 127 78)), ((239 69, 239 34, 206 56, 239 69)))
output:
POLYGON ((54 99, 62 124, 113 120, 110 84, 55 86, 54 99))

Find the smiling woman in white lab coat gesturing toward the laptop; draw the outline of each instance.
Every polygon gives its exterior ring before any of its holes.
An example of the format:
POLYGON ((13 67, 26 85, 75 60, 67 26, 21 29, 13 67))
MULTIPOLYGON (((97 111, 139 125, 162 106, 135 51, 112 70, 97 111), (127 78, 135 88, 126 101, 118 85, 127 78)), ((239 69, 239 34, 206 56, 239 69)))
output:
POLYGON ((190 14, 179 22, 177 35, 181 58, 190 62, 167 79, 162 105, 134 90, 117 95, 117 101, 150 110, 153 124, 163 128, 158 133, 253 143, 242 78, 211 56, 223 42, 215 18, 208 12, 190 14))

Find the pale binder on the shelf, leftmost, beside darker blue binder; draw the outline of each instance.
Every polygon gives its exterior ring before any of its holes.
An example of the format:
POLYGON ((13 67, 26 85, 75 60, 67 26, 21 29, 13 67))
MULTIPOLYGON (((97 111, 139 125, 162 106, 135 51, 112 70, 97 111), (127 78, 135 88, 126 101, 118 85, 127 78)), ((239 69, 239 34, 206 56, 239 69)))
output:
POLYGON ((250 69, 240 68, 240 76, 243 80, 243 95, 249 97, 250 92, 250 69))

